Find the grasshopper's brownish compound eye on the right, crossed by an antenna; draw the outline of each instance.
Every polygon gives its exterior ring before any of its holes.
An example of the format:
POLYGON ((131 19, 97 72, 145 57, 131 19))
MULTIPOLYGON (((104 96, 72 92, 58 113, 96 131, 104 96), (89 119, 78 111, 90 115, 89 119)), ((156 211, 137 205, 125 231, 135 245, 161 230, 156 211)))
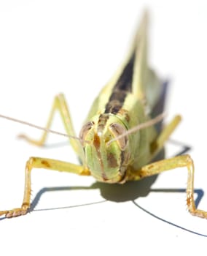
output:
MULTIPOLYGON (((117 123, 110 124, 109 129, 112 132, 112 135, 114 135, 114 138, 116 138, 120 135, 124 135, 126 132, 125 127, 123 127, 121 124, 117 124, 117 123)), ((125 150, 127 143, 128 143, 128 135, 125 135, 122 138, 118 138, 117 143, 120 146, 120 149, 122 151, 125 150)))

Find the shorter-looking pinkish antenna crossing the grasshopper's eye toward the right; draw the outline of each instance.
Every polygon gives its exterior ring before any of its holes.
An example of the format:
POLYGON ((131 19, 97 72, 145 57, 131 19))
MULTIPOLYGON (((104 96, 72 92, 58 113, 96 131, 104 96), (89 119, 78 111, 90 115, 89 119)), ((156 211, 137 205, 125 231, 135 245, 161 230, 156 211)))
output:
POLYGON ((126 135, 130 135, 131 133, 137 132, 140 129, 151 127, 152 125, 159 123, 160 121, 163 120, 165 115, 166 115, 165 113, 161 113, 160 115, 156 116, 155 118, 150 119, 149 121, 146 121, 144 123, 138 124, 136 127, 128 129, 128 131, 122 133, 122 135, 119 135, 119 136, 113 138, 112 140, 109 140, 109 142, 107 143, 107 146, 109 146, 113 141, 119 140, 120 138, 123 138, 126 135))

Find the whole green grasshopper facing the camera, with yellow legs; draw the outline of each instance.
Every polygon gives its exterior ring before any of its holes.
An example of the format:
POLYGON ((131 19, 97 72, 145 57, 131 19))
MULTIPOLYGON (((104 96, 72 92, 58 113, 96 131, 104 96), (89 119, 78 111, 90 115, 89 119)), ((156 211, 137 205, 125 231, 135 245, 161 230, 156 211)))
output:
POLYGON ((162 83, 147 64, 147 14, 141 20, 133 44, 120 68, 93 102, 85 124, 76 137, 69 108, 63 94, 55 97, 52 111, 40 140, 22 137, 43 146, 56 110, 63 119, 72 148, 82 162, 74 165, 55 159, 30 157, 26 162, 25 190, 20 208, 0 211, 0 216, 17 217, 28 212, 31 203, 31 170, 45 168, 80 176, 93 176, 97 181, 123 184, 162 173, 176 167, 187 167, 187 207, 192 215, 207 218, 207 212, 195 208, 194 165, 189 155, 152 162, 165 141, 179 124, 175 116, 157 133, 155 124, 163 115, 152 118, 150 111, 160 97, 162 83), (152 163, 151 163, 152 162, 152 163))

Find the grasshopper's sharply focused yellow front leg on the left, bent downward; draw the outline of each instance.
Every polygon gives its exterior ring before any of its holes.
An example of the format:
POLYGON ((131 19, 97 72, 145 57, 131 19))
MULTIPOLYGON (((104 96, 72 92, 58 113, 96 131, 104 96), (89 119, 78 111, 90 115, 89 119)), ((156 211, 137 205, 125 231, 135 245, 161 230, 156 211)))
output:
POLYGON ((90 176, 90 171, 80 165, 74 165, 69 162, 62 162, 54 159, 31 157, 26 162, 26 173, 25 173, 25 190, 23 203, 20 208, 14 208, 8 211, 0 211, 0 216, 4 215, 7 218, 17 217, 25 215, 31 206, 31 170, 32 168, 44 168, 50 170, 58 170, 60 172, 76 173, 81 176, 90 176))

